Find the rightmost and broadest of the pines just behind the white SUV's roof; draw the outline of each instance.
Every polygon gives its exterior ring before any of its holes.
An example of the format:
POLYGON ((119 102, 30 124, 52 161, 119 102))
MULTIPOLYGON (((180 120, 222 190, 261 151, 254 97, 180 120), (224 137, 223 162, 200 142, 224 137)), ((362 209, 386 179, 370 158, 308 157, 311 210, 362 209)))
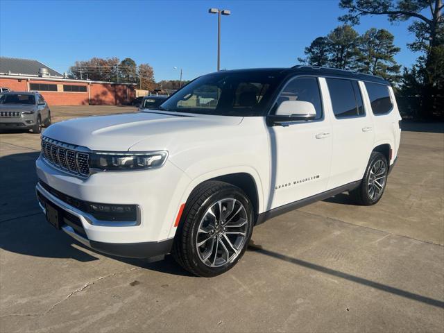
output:
POLYGON ((400 65, 395 61, 401 49, 393 44, 395 37, 384 29, 370 28, 359 37, 357 70, 382 76, 393 82, 400 79, 400 65))

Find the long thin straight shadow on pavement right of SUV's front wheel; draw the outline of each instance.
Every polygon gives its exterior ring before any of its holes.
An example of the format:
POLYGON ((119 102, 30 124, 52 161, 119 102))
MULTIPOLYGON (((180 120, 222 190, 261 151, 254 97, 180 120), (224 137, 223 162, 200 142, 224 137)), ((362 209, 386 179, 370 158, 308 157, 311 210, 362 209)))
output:
POLYGON ((359 276, 356 276, 356 275, 351 275, 351 274, 344 273, 341 271, 336 271, 335 269, 328 268, 328 267, 321 266, 321 265, 317 265, 317 264, 313 264, 311 262, 306 262, 305 260, 302 260, 302 259, 289 257, 288 255, 282 255, 281 253, 278 253, 278 252, 275 252, 272 250, 267 250, 266 248, 263 248, 261 245, 255 244, 255 242, 253 240, 251 240, 250 244, 248 244, 248 250, 260 253, 262 255, 267 255, 267 256, 273 257, 275 259, 280 259, 280 260, 283 260, 284 262, 289 262, 291 264, 296 264, 298 266, 309 268, 311 270, 318 271, 318 272, 321 272, 321 273, 324 273, 327 275, 332 275, 336 278, 341 278, 341 279, 345 279, 345 280, 352 281, 355 283, 363 284, 363 285, 370 287, 370 288, 385 291, 386 293, 392 293, 394 295, 402 296, 404 298, 409 298, 411 300, 423 302, 427 305, 432 305, 434 307, 444 308, 444 302, 441 300, 436 300, 434 298, 422 296, 422 295, 419 295, 418 293, 411 293, 410 291, 405 291, 402 289, 388 286, 386 284, 382 284, 382 283, 375 282, 372 280, 367 280, 366 278, 360 278, 359 276))

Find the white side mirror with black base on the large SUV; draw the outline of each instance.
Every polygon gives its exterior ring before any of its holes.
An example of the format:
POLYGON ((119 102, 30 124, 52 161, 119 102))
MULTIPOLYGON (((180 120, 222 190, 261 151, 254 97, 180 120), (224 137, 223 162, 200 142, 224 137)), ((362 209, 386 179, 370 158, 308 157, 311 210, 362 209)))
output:
POLYGON ((275 114, 267 117, 268 126, 285 126, 292 121, 307 121, 316 119, 314 105, 305 101, 283 101, 275 114))

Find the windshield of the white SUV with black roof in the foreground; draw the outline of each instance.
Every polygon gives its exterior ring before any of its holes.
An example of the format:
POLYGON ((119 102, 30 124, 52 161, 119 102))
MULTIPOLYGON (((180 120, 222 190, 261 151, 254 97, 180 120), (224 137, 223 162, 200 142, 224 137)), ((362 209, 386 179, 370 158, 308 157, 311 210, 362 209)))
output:
POLYGON ((262 116, 278 84, 270 71, 219 72, 201 76, 173 94, 160 109, 224 116, 262 116))

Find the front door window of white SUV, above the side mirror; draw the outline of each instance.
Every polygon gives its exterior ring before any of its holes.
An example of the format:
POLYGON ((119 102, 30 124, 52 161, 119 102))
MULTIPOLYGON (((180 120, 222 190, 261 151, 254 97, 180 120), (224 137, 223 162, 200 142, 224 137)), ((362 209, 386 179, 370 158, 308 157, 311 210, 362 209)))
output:
POLYGON ((275 110, 284 101, 310 102, 316 110, 316 118, 322 118, 321 92, 317 78, 293 78, 280 93, 275 110))

